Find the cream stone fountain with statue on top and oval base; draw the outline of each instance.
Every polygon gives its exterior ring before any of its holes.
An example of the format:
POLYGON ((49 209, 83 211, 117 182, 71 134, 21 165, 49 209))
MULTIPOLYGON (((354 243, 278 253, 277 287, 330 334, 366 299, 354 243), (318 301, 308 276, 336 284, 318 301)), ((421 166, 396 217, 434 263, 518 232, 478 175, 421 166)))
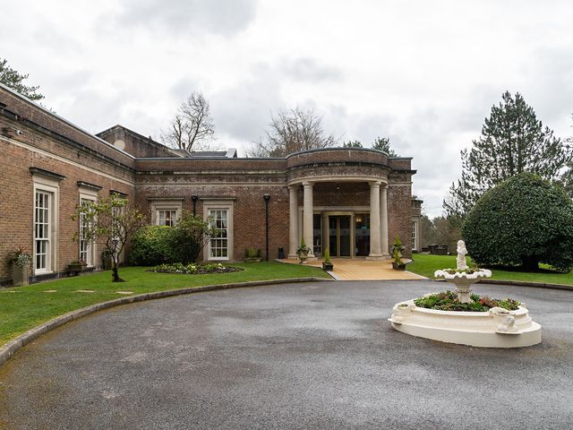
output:
MULTIPOLYGON (((434 276, 456 286, 461 303, 472 303, 472 284, 490 278, 492 271, 471 271, 466 245, 458 241, 457 271, 436 271, 434 276)), ((519 348, 541 342, 541 325, 532 321, 524 303, 515 311, 492 307, 488 312, 441 311, 415 305, 414 299, 394 305, 389 322, 412 336, 483 348, 519 348)))

